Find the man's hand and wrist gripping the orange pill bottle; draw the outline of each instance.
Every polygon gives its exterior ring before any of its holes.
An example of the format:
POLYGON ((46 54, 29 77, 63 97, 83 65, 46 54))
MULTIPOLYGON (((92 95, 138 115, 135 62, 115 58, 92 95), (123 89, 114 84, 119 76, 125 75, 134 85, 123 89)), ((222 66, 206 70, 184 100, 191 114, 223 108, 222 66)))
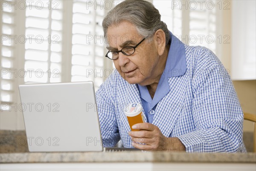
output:
POLYGON ((160 129, 151 123, 137 123, 133 129, 140 131, 130 131, 132 145, 140 150, 167 150, 185 151, 186 148, 177 137, 165 137, 160 129), (140 144, 143 143, 143 144, 140 144))

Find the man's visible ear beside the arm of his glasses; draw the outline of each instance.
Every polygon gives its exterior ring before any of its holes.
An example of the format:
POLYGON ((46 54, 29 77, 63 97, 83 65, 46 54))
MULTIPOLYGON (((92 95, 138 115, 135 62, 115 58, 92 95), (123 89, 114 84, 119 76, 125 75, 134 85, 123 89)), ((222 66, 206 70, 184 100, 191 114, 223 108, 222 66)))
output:
POLYGON ((162 29, 158 29, 154 34, 154 38, 157 46, 158 55, 161 56, 166 47, 166 37, 164 31, 162 29))

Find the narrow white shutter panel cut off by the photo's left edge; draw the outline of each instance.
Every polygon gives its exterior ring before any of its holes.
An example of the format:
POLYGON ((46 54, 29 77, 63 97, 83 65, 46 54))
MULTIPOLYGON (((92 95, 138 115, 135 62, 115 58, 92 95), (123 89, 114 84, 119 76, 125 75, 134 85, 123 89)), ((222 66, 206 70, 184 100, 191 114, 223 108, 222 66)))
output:
MULTIPOLYGON (((15 72, 15 10, 9 9, 9 6, 4 6, 1 3, 1 77, 0 77, 0 102, 1 110, 8 110, 6 103, 13 103, 15 101, 15 77, 17 75, 11 73, 15 72)), ((17 43, 17 42, 16 42, 17 43)))

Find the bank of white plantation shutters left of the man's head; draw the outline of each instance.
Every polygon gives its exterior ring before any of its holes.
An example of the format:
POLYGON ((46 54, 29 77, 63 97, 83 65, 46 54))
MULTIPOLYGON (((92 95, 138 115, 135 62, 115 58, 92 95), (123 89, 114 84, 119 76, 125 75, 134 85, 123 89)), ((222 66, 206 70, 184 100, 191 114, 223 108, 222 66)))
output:
POLYGON ((1 1, 1 41, 7 37, 0 46, 1 110, 2 105, 18 103, 17 87, 24 83, 91 80, 97 90, 112 62, 104 57, 105 1, 13 0, 16 7, 5 2, 7 6, 2 6, 1 1), (20 9, 20 2, 25 8, 20 9), (15 36, 25 40, 9 43, 8 38, 15 36), (16 75, 9 77, 15 70, 16 75), (24 71, 26 76, 17 75, 24 71))

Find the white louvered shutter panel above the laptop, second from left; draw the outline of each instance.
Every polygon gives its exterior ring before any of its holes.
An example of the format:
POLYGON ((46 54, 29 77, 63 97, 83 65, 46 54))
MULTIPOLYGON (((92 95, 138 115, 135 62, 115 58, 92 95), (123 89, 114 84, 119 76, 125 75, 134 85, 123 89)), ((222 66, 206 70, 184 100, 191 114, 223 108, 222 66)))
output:
POLYGON ((26 8, 24 82, 61 82, 62 1, 35 4, 26 8))

